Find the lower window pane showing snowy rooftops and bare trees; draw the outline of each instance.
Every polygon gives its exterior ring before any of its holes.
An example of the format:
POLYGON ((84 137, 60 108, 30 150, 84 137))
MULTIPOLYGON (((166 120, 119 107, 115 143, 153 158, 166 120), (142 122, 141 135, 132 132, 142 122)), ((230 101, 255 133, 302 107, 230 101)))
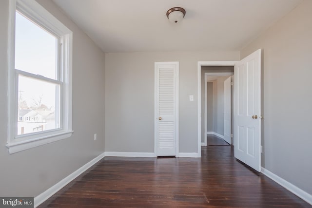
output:
POLYGON ((19 75, 18 135, 59 128, 58 84, 19 75))

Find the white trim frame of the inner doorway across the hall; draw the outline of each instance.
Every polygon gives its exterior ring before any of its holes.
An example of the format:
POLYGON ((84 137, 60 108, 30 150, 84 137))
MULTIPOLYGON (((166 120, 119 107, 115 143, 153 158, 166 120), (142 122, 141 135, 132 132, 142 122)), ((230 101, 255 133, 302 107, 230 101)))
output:
MULTIPOLYGON (((204 143, 201 143, 201 146, 207 146, 207 76, 234 76, 234 72, 206 72, 204 73, 204 76, 205 76, 204 77, 204 80, 205 80, 204 134, 206 135, 206 137, 205 137, 204 143)), ((232 100, 233 100, 233 94, 232 94, 232 100)), ((233 112, 233 106, 232 106, 232 112, 233 112)), ((232 120, 233 120, 233 116, 232 116, 232 120)), ((201 142, 201 136, 200 136, 200 142, 201 142)))

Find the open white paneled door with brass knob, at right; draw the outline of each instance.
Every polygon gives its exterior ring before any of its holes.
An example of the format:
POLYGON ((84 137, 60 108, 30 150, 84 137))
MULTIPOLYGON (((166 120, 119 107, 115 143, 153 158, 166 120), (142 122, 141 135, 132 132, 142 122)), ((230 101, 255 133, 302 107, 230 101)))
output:
POLYGON ((260 71, 260 49, 234 67, 234 155, 257 171, 261 170, 260 71))

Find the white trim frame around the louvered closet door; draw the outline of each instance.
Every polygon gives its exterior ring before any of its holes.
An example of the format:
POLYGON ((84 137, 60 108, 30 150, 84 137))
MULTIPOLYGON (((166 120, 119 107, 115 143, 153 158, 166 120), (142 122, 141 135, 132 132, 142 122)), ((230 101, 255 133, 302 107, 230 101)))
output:
POLYGON ((158 128, 157 128, 157 120, 158 120, 158 103, 157 103, 157 82, 158 82, 158 74, 157 74, 157 65, 158 64, 175 64, 176 65, 176 157, 179 156, 179 62, 178 61, 161 61, 155 62, 154 69, 154 156, 157 157, 157 138, 158 138, 158 128))

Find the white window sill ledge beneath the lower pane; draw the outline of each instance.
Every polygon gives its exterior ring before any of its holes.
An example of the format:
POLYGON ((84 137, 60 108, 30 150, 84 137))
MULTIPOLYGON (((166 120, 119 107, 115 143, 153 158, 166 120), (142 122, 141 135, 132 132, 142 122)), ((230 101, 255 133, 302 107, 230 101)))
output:
POLYGON ((32 139, 19 142, 10 142, 6 145, 6 147, 9 149, 9 153, 13 154, 19 151, 28 150, 34 147, 38 147, 40 145, 49 144, 51 142, 68 138, 72 135, 73 132, 74 131, 58 132, 54 134, 37 137, 35 140, 32 139))

